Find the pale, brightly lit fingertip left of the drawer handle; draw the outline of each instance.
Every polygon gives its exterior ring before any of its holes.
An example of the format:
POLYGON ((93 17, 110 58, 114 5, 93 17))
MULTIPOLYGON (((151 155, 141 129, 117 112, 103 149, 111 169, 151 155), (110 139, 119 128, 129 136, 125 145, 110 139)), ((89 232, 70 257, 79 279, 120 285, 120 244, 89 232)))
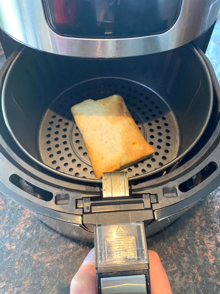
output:
POLYGON ((72 278, 70 294, 96 294, 95 251, 89 252, 78 272, 72 278))

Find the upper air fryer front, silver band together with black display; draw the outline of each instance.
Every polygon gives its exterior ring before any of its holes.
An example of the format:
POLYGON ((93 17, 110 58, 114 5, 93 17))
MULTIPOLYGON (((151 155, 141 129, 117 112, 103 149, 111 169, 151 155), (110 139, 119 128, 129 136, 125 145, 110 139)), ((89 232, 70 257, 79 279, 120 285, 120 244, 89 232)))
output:
POLYGON ((219 11, 219 0, 1 0, 0 27, 42 51, 119 58, 182 46, 209 29, 219 11))

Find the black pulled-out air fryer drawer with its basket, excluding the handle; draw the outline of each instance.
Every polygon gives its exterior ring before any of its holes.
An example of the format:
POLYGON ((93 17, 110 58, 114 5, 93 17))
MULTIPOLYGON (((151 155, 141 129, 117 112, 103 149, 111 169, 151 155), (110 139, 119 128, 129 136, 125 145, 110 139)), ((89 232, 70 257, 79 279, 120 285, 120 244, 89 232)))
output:
MULTIPOLYGON (((65 235, 92 241, 93 224, 106 209, 102 180, 92 172, 70 112, 88 98, 123 96, 155 149, 126 169, 132 205, 145 201, 135 213, 146 214, 146 235, 219 186, 219 85, 207 58, 192 45, 113 60, 25 47, 6 61, 0 82, 0 189, 65 235)), ((112 213, 105 212, 106 218, 123 223, 134 212, 112 213)))

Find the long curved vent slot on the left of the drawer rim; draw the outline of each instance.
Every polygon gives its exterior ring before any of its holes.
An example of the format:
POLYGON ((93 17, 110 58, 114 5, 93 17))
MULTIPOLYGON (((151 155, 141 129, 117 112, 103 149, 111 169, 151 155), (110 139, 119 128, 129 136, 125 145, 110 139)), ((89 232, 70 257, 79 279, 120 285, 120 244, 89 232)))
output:
POLYGON ((13 174, 10 176, 9 181, 14 184, 16 187, 18 187, 19 189, 25 191, 26 193, 40 198, 44 201, 50 201, 53 199, 53 193, 43 190, 37 186, 34 186, 31 183, 28 183, 27 181, 25 181, 23 178, 19 177, 16 174, 13 174))

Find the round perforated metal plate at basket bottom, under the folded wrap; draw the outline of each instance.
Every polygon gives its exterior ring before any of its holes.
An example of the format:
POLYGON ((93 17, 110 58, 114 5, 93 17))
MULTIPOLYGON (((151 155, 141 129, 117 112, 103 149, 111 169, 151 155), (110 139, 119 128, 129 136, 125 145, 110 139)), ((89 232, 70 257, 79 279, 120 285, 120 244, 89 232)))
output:
MULTIPOLYGON (((70 108, 86 99, 121 95, 145 140, 155 153, 128 168, 128 176, 157 169, 176 158, 179 149, 177 120, 165 101, 147 86, 123 78, 96 78, 76 84, 60 94, 46 110, 39 128, 43 163, 83 178, 95 178, 82 135, 70 108)), ((95 134, 94 134, 95 136, 95 134)))

